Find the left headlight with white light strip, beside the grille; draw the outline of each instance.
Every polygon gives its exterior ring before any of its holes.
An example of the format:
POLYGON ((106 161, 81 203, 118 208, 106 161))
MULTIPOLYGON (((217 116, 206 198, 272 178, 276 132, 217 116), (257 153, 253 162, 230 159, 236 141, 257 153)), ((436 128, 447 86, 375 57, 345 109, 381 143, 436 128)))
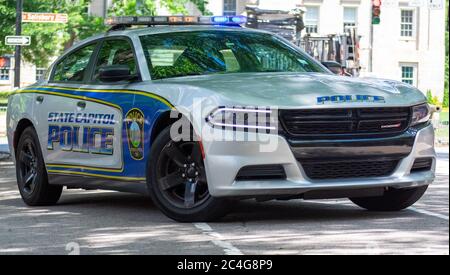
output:
POLYGON ((271 131, 277 129, 277 112, 270 108, 219 107, 206 118, 213 127, 223 129, 260 129, 271 131))

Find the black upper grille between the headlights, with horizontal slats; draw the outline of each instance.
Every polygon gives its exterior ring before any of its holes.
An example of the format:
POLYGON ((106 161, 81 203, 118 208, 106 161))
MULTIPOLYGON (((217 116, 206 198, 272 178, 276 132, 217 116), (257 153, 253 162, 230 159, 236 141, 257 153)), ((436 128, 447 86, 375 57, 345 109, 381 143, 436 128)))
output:
POLYGON ((361 136, 404 132, 411 108, 280 110, 283 129, 292 136, 361 136))

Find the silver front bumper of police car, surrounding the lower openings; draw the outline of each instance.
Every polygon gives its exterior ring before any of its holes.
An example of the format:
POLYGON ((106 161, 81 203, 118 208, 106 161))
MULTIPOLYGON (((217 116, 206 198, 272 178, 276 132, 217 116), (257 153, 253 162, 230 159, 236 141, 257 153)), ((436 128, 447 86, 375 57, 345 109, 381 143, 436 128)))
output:
MULTIPOLYGON (((232 131, 225 131, 225 135, 232 135, 232 131)), ((205 141, 203 146, 206 152, 205 166, 208 176, 208 187, 214 197, 284 197, 301 196, 311 191, 339 191, 371 189, 379 187, 408 188, 429 185, 434 180, 436 167, 436 153, 434 150, 434 130, 431 125, 418 129, 414 133, 411 148, 404 156, 390 176, 349 178, 334 180, 311 180, 306 176, 298 155, 305 152, 313 154, 314 150, 327 151, 331 147, 320 147, 302 150, 293 148, 292 142, 280 135, 266 135, 268 143, 276 144, 271 152, 261 152, 261 142, 241 141, 205 141), (411 173, 411 168, 417 158, 432 158, 432 169, 424 172, 411 173), (252 165, 282 165, 286 172, 286 179, 279 180, 236 180, 239 170, 252 165)), ((339 141, 334 141, 339 142, 339 141)), ((344 141, 343 141, 344 142, 344 141)), ((354 147, 349 152, 361 155, 365 152, 364 146, 354 147)), ((378 148, 378 147, 377 147, 378 148)), ((380 147, 382 148, 382 147, 380 147)), ((401 146, 392 147, 393 153, 401 146)), ((390 151, 387 146, 385 152, 390 151)), ((391 150, 391 151, 392 151, 391 150)), ((368 152, 374 151, 373 148, 368 152)), ((335 150, 336 154, 341 154, 335 150)), ((380 152, 378 152, 380 153, 380 152)))

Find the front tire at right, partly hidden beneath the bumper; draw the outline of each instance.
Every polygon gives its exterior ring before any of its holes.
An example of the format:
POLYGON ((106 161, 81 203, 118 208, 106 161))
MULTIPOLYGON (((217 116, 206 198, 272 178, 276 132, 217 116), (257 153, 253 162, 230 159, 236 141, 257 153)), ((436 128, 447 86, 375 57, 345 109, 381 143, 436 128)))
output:
POLYGON ((369 211, 400 211, 416 203, 427 189, 427 185, 408 189, 389 189, 381 197, 350 198, 350 200, 369 211))

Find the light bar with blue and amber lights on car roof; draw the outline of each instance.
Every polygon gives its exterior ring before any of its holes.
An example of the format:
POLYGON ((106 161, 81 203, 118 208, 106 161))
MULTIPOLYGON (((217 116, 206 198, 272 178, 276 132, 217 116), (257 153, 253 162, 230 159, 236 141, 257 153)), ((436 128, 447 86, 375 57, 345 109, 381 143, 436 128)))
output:
POLYGON ((116 16, 105 20, 110 26, 132 25, 231 25, 247 23, 245 16, 116 16))

